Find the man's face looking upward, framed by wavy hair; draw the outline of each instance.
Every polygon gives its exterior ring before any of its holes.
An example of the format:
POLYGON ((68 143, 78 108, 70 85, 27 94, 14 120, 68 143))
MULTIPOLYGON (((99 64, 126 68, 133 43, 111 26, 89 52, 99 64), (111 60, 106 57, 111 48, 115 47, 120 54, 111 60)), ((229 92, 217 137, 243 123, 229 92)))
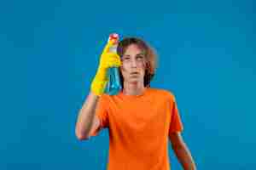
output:
POLYGON ((122 56, 120 70, 124 77, 124 82, 143 82, 146 67, 146 57, 143 50, 136 44, 129 45, 122 56))

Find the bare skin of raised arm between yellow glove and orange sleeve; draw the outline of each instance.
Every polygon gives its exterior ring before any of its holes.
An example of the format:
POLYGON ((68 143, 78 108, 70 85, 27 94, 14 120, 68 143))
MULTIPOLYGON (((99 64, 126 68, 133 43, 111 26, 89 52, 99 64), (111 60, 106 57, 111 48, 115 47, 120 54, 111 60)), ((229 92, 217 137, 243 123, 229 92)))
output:
POLYGON ((90 92, 79 111, 75 133, 80 140, 89 139, 91 130, 96 129, 100 125, 95 114, 99 98, 99 96, 90 92))

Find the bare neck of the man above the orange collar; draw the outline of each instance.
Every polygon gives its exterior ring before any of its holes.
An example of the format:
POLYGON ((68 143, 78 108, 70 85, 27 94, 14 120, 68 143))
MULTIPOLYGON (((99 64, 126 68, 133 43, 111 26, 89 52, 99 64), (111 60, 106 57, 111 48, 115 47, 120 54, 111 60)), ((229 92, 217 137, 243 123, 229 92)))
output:
POLYGON ((140 95, 145 90, 144 84, 139 82, 124 82, 123 93, 125 95, 140 95))

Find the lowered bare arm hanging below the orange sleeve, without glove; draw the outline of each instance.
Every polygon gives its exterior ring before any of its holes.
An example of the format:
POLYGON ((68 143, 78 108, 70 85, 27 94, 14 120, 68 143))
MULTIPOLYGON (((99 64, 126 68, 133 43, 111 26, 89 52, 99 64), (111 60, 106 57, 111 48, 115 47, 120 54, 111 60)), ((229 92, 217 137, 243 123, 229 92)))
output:
POLYGON ((189 148, 184 143, 180 133, 171 133, 169 138, 172 142, 172 150, 174 150, 178 161, 182 164, 184 170, 195 170, 195 162, 190 154, 189 148))

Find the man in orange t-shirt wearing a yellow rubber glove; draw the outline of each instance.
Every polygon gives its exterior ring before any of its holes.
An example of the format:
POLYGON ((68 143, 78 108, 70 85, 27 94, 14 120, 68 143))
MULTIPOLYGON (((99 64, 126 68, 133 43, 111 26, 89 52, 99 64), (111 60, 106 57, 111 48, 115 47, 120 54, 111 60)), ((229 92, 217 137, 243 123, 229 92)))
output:
POLYGON ((181 136, 181 122, 174 95, 150 88, 156 56, 146 42, 127 37, 118 54, 103 50, 100 65, 79 112, 76 135, 90 139, 103 128, 109 132, 108 170, 170 170, 168 139, 183 169, 194 170, 195 162, 181 136), (109 67, 119 67, 122 90, 103 94, 109 67))

